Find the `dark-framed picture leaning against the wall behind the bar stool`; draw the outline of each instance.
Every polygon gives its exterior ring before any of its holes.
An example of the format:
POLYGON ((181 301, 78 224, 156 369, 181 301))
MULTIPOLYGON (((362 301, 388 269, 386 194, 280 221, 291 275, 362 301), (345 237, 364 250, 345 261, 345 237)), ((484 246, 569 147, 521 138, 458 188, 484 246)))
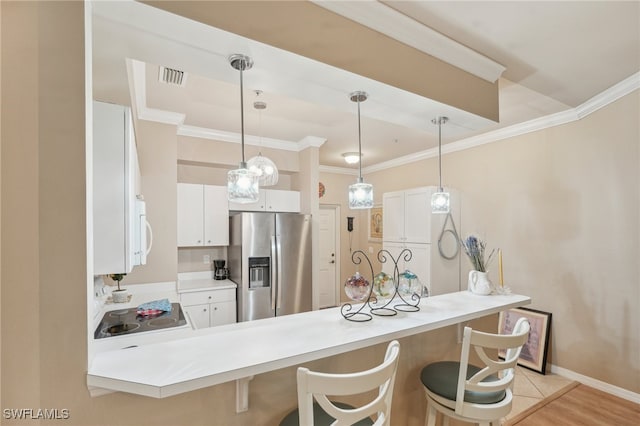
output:
MULTIPOLYGON (((522 347, 518 365, 540 374, 545 374, 547 352, 549 350, 549 333, 551 331, 551 313, 531 308, 512 308, 502 311, 498 322, 499 333, 511 334, 513 326, 522 317, 529 320, 531 330, 529 331, 527 342, 522 347)), ((498 356, 504 359, 505 351, 501 350, 498 356)))

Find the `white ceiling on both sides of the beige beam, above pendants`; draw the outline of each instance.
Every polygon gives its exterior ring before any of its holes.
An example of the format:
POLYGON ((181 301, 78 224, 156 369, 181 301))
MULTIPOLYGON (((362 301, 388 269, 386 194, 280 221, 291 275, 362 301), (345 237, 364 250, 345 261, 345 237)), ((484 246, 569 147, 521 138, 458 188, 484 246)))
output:
MULTIPOLYGON (((349 5, 357 11, 358 3, 349 5)), ((94 97, 128 104, 124 59, 135 59, 147 64, 138 77, 150 110, 182 114, 185 128, 237 133, 239 76, 227 57, 247 53, 255 61, 244 73, 245 131, 256 136, 249 141, 296 149, 309 137, 320 138, 326 140, 321 164, 344 167, 341 154, 358 146, 357 110, 348 94, 365 90, 363 166, 371 167, 433 151, 437 128, 430 121, 436 115, 451 118, 442 132, 446 146, 578 107, 640 70, 638 1, 375 6, 383 8, 385 22, 408 16, 503 65, 500 123, 131 1, 93 4, 94 97), (185 87, 160 84, 157 65, 186 71, 185 87), (252 107, 253 90, 263 91, 260 100, 268 106, 262 113, 252 107)), ((390 27, 387 35, 400 40, 390 27)))

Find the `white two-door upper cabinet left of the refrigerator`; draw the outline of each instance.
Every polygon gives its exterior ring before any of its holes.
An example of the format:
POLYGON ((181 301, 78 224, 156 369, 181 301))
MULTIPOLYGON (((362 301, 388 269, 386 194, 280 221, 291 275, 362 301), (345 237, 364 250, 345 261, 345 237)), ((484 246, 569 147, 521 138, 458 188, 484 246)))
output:
POLYGON ((178 247, 229 245, 227 188, 178 184, 178 247))

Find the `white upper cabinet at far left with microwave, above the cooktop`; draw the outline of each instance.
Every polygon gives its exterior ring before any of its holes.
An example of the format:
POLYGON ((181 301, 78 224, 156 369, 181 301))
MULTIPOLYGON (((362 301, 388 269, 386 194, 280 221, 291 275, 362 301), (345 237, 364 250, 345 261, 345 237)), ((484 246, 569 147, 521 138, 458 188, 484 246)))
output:
POLYGON ((146 217, 131 110, 93 103, 94 274, 129 273, 146 262, 146 217), (144 239, 144 241, 141 241, 144 239))

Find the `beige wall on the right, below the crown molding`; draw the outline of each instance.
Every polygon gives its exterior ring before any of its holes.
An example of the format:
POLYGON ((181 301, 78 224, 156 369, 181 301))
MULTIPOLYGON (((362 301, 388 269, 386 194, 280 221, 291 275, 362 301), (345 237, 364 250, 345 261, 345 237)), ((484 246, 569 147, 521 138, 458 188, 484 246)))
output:
MULTIPOLYGON (((462 230, 504 252, 505 281, 551 312, 550 362, 640 391, 639 97, 588 117, 445 155, 462 191, 462 230)), ((443 132, 446 128, 443 129, 443 132)), ((376 192, 407 176, 437 182, 437 159, 368 176, 376 192)), ((463 274, 470 269, 466 259, 463 274)), ((497 282, 497 270, 491 278, 497 282)))

